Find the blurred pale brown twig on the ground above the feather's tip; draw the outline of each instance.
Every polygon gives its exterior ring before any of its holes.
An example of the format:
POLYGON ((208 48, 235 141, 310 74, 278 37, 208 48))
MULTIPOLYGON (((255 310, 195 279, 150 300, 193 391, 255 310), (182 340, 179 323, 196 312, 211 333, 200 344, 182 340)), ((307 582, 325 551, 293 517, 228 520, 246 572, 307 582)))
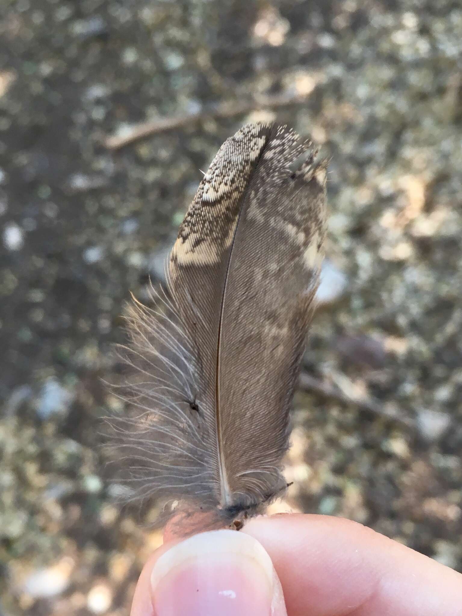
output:
POLYGON ((208 108, 197 113, 176 116, 172 118, 156 118, 141 124, 134 124, 132 128, 124 134, 113 134, 104 140, 108 150, 120 150, 126 145, 132 144, 140 139, 145 139, 161 132, 172 131, 182 126, 187 126, 194 122, 200 122, 208 118, 233 118, 234 116, 250 113, 259 108, 277 109, 280 107, 290 107, 299 105, 307 100, 307 95, 267 95, 256 96, 251 101, 245 102, 223 102, 214 107, 208 108))

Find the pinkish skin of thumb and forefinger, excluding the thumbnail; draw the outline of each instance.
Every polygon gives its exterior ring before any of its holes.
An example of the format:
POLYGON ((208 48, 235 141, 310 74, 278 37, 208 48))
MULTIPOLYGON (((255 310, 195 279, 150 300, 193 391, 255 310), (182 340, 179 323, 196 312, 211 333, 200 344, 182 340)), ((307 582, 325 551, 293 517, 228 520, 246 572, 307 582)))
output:
MULTIPOLYGON (((155 616, 150 575, 182 540, 176 532, 170 524, 145 564, 131 616, 155 616)), ((462 616, 460 573, 356 522, 278 514, 257 517, 240 532, 271 557, 288 616, 462 616)))

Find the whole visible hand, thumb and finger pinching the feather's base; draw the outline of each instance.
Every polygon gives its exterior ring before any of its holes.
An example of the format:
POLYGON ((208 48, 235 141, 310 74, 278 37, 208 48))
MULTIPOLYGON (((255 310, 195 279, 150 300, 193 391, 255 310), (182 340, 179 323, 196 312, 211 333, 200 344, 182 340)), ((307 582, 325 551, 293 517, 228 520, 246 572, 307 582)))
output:
POLYGON ((164 539, 131 616, 462 616, 460 573, 345 519, 282 514, 164 539))

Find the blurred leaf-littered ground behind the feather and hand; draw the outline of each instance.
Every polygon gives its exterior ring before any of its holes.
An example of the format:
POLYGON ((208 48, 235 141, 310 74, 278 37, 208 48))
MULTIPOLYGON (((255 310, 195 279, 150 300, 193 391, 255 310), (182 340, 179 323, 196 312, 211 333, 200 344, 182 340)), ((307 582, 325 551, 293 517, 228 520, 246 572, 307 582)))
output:
POLYGON ((274 510, 462 570, 460 0, 2 0, 0 614, 128 614, 161 542, 97 435, 120 315, 245 121, 330 157, 274 510))

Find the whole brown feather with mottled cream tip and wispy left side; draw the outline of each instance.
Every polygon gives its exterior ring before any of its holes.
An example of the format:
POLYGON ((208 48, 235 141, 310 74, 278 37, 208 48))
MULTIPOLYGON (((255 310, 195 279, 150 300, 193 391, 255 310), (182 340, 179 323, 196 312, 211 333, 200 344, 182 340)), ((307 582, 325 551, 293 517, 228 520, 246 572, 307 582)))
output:
POLYGON ((168 292, 128 315, 131 410, 113 421, 134 498, 241 524, 286 489, 282 458, 325 235, 326 163, 248 124, 200 182, 168 292))

